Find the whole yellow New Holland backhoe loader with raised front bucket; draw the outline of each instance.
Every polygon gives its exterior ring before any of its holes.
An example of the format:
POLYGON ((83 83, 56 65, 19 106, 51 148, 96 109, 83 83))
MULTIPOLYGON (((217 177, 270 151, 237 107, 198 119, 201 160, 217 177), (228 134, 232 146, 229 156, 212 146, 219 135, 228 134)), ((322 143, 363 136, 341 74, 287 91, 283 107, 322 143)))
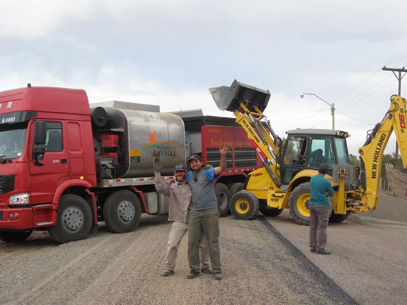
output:
POLYGON ((258 210, 278 216, 288 208, 293 219, 309 224, 309 180, 319 164, 329 165, 326 178, 334 188, 331 222, 342 222, 350 213, 371 211, 379 199, 384 149, 395 132, 404 167, 407 166, 406 100, 390 98, 390 108, 381 123, 368 132, 359 148, 361 166, 353 168, 346 146, 347 132, 325 129, 295 129, 278 137, 263 114, 269 90, 235 80, 231 86, 210 88, 220 110, 231 111, 247 132, 264 167, 250 172, 242 191, 231 198, 230 211, 239 219, 251 219, 258 210))

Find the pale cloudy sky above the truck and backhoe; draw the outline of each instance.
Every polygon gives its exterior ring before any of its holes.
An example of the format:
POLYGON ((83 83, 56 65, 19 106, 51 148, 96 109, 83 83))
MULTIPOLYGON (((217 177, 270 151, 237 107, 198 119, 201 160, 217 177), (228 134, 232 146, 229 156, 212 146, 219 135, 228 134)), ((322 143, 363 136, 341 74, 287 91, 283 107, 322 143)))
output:
MULTIPOLYGON (((396 77, 381 69, 407 66, 407 2, 400 0, 0 5, 0 91, 27 83, 81 88, 90 103, 233 117, 208 88, 237 79, 270 90, 264 113, 280 137, 296 128, 331 129, 333 103, 335 129, 351 134, 354 155, 398 93, 396 77)), ((394 148, 393 136, 386 153, 394 148)))

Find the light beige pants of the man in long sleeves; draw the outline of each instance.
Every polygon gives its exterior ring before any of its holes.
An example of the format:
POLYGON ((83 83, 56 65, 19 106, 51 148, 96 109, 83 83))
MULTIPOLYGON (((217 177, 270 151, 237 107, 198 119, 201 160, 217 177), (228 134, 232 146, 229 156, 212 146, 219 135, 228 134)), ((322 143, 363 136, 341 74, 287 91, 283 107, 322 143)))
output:
MULTIPOLYGON (((165 269, 173 270, 177 259, 178 248, 180 247, 181 239, 188 231, 188 224, 182 222, 172 222, 171 232, 168 235, 167 242, 167 257, 165 259, 165 269)), ((199 243, 199 261, 200 267, 211 267, 211 259, 209 257, 208 242, 205 235, 202 236, 199 243)))

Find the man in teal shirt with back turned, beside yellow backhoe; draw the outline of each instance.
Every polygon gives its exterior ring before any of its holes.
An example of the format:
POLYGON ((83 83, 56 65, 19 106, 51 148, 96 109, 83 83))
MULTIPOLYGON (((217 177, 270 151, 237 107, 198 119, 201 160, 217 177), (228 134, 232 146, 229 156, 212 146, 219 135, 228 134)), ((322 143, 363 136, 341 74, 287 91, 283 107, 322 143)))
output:
POLYGON ((311 192, 309 202, 309 247, 316 254, 329 255, 327 245, 327 228, 329 219, 329 196, 334 195, 331 182, 324 176, 328 172, 328 164, 319 165, 318 174, 310 181, 311 192))

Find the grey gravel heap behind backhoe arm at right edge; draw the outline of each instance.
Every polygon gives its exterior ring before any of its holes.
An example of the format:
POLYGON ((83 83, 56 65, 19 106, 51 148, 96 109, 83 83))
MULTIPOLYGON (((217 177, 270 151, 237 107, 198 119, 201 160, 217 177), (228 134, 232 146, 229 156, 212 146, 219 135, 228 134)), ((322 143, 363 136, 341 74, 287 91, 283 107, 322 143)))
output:
POLYGON ((354 214, 360 217, 407 222, 407 199, 381 194, 374 211, 354 214))

